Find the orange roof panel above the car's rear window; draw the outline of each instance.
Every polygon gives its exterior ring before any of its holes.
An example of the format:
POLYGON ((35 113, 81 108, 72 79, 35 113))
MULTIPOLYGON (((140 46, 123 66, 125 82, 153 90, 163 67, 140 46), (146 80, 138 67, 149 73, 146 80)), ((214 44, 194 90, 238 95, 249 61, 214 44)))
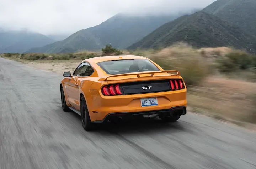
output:
POLYGON ((94 58, 85 59, 85 61, 89 62, 104 62, 108 60, 123 60, 123 59, 146 59, 143 56, 136 56, 136 55, 116 55, 116 56, 99 56, 94 58))

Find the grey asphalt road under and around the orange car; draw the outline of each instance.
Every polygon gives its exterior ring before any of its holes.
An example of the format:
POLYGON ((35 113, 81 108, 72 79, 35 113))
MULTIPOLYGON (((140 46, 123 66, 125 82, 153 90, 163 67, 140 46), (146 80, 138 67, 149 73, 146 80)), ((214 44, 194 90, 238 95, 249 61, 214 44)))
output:
POLYGON ((255 169, 256 133, 188 113, 86 132, 62 76, 0 58, 0 169, 255 169))

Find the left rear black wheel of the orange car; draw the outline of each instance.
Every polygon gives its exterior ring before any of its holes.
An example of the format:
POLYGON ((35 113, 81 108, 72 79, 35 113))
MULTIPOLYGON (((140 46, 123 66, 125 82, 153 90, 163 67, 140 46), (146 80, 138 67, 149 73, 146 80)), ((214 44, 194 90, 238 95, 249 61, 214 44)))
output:
POLYGON ((88 108, 87 108, 84 96, 82 96, 80 103, 81 103, 80 113, 81 113, 82 126, 86 131, 90 131, 92 130, 92 123, 91 123, 91 119, 89 116, 89 112, 88 112, 88 108))

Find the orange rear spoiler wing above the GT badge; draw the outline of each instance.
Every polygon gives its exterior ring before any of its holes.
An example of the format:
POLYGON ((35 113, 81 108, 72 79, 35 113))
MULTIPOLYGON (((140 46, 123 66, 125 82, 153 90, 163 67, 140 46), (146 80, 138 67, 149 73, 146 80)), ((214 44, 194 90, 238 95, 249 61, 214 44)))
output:
MULTIPOLYGON (((177 71, 177 70, 164 70, 164 71, 146 71, 146 72, 134 72, 134 73, 126 73, 126 74, 118 74, 118 75, 111 75, 111 76, 108 76, 106 78, 100 78, 98 81, 108 81, 108 78, 111 78, 111 77, 120 77, 120 76, 129 76, 129 75, 137 75, 137 78, 141 77, 140 75, 143 75, 143 74, 151 74, 150 77, 153 77, 154 74, 157 74, 157 73, 176 73, 176 74, 172 74, 172 75, 180 75, 180 72, 177 71)), ((170 75, 170 76, 172 76, 170 75)))

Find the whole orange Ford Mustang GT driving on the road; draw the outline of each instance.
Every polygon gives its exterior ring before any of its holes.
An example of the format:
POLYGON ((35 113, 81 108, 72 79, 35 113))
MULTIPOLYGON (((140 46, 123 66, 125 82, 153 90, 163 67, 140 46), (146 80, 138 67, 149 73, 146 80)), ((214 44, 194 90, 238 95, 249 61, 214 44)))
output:
POLYGON ((177 121, 186 114, 186 85, 176 70, 163 70, 142 56, 85 59, 63 74, 62 109, 81 115, 85 130, 94 123, 133 117, 177 121))

